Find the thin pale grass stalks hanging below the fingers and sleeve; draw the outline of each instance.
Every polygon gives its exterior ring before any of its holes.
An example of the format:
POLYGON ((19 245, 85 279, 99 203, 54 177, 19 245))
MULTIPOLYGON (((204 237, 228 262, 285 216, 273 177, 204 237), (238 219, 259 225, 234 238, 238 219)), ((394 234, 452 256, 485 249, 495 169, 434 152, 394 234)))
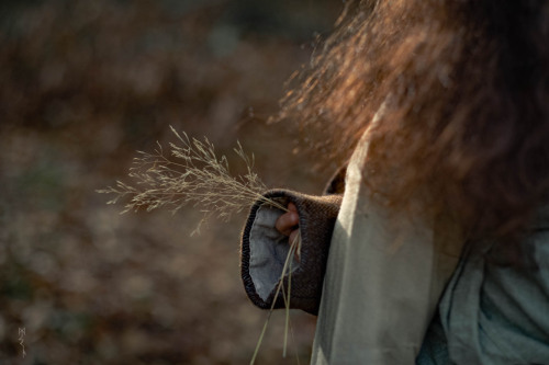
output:
MULTIPOLYGON (((274 299, 272 300, 271 308, 269 309, 269 313, 267 315, 267 319, 265 321, 264 328, 261 330, 261 334, 259 335, 259 339, 256 344, 256 350, 254 351, 254 356, 251 357, 250 365, 254 365, 256 362, 256 357, 259 353, 259 347, 261 346, 261 343, 264 341, 265 333, 267 331, 267 326, 269 324, 269 320, 271 318, 272 312, 274 311, 274 304, 277 301, 277 298, 282 292, 282 297, 284 299, 284 306, 285 306, 285 330, 284 330, 284 345, 283 345, 283 356, 285 357, 287 353, 287 343, 288 343, 288 330, 289 330, 289 323, 290 323, 290 294, 291 294, 291 280, 292 280, 292 259, 301 248, 301 235, 298 232, 295 238, 293 239, 290 250, 288 251, 288 254, 285 256, 284 265, 282 266, 282 272, 280 274, 280 282, 277 286, 277 290, 274 292, 274 299), (288 293, 284 293, 283 290, 283 278, 284 276, 288 275, 288 293)), ((292 333, 293 335, 293 333, 292 333)), ((298 364, 300 364, 300 358, 298 354, 295 354, 295 357, 298 360, 298 364)))

